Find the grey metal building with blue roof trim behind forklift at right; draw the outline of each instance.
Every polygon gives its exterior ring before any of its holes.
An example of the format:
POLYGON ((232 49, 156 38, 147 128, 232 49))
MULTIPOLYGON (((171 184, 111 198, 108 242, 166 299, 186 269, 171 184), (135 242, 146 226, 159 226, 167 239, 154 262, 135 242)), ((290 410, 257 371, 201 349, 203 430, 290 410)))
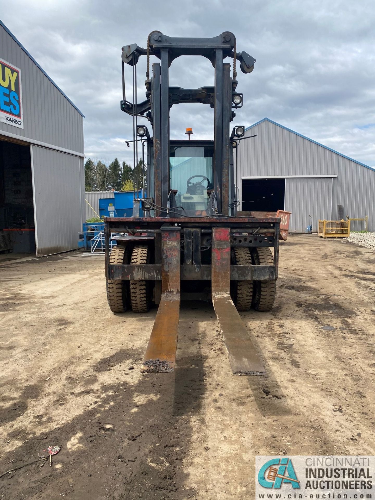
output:
MULTIPOLYGON (((375 170, 268 118, 246 128, 238 145, 237 185, 242 210, 292 212, 289 231, 304 232, 312 215, 337 220, 368 215, 375 231, 375 170)), ((353 230, 363 229, 352 222, 353 230)))

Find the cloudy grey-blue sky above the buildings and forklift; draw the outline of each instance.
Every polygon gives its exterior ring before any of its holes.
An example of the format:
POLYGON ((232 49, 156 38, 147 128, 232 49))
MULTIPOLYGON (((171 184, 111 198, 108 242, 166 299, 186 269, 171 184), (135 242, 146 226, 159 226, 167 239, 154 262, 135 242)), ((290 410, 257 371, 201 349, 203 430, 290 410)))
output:
MULTIPOLYGON (((132 119, 119 110, 122 45, 145 46, 154 29, 170 36, 229 30, 237 50, 256 59, 251 74, 238 72, 244 105, 237 124, 267 116, 375 166, 373 1, 12 0, 1 2, 0 15, 85 115, 87 156, 132 158, 124 144, 132 136, 132 119)), ((137 68, 143 100, 145 57, 137 68)), ((131 68, 125 69, 130 92, 131 68)), ((213 84, 212 66, 204 58, 185 58, 184 64, 177 59, 169 84, 213 84)), ((175 105, 170 120, 172 138, 184 138, 186 126, 195 138, 212 138, 208 105, 175 105)))

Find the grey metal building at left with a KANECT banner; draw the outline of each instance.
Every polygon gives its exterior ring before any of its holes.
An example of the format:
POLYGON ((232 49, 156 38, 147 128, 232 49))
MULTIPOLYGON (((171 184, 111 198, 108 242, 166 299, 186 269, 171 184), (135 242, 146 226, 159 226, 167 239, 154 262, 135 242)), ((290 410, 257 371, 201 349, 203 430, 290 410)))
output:
POLYGON ((1 21, 0 70, 0 250, 76 248, 84 116, 1 21))

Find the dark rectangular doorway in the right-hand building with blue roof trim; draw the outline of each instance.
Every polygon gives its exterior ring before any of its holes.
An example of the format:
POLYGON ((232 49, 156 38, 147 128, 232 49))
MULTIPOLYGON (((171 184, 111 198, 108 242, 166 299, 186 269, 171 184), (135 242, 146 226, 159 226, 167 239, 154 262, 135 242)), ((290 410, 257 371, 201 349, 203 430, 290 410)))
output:
POLYGON ((284 200, 285 179, 242 180, 242 210, 283 210, 284 200))

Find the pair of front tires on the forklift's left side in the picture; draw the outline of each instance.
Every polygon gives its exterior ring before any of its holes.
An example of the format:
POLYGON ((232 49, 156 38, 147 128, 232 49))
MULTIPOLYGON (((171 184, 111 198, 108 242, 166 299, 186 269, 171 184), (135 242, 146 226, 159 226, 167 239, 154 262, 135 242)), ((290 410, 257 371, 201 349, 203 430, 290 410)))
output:
MULTIPOLYGON (((147 245, 135 245, 129 256, 127 247, 116 245, 109 254, 110 264, 148 264, 150 252, 147 245), (129 262, 130 260, 130 262, 129 262)), ((129 305, 134 312, 147 312, 150 306, 149 281, 131 279, 107 280, 107 300, 112 312, 125 312, 129 305)))

